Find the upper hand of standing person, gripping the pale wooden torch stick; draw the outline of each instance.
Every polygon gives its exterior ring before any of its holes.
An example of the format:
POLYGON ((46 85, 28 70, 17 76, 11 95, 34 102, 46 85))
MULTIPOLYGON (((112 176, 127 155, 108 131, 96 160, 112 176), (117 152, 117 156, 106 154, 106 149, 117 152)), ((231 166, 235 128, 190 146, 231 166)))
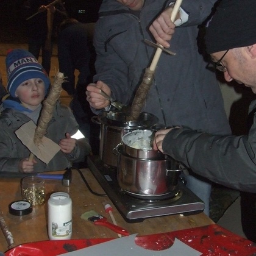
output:
MULTIPOLYGON (((171 21, 172 10, 172 6, 165 9, 149 27, 157 43, 165 48, 170 47, 168 41, 171 40, 175 31, 175 24, 171 21)), ((179 15, 177 15, 177 18, 179 18, 179 15)))

